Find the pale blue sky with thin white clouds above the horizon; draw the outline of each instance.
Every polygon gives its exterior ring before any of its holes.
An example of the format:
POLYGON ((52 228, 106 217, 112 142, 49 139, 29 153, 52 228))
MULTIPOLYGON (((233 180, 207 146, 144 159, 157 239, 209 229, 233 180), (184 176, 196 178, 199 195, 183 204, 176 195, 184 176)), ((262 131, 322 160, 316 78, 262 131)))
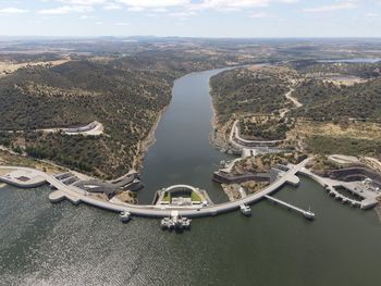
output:
POLYGON ((381 0, 0 0, 0 36, 381 37, 381 0))

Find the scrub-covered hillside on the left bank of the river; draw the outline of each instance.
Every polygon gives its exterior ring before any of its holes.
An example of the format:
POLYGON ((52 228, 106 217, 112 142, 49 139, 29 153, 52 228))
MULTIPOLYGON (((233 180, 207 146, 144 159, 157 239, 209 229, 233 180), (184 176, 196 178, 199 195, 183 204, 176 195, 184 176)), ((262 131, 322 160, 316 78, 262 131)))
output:
POLYGON ((0 136, 0 142, 95 176, 119 177, 138 167, 140 142, 169 104, 173 80, 233 59, 167 50, 22 67, 0 78, 0 122, 3 130, 23 132, 0 136), (38 132, 95 120, 105 136, 38 132))

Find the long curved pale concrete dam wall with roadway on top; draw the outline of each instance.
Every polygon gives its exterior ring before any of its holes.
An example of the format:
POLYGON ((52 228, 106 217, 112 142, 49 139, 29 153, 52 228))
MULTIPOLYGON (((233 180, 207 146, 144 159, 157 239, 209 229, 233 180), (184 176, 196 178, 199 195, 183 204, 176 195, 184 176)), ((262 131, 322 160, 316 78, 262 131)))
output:
MULTIPOLYGON (((75 186, 66 186, 59 179, 54 178, 51 175, 48 175, 41 171, 37 171, 28 167, 15 167, 15 166, 0 166, 0 170, 8 171, 23 171, 30 174, 32 177, 40 177, 40 183, 47 182, 57 190, 52 191, 49 195, 49 200, 51 202, 59 202, 64 199, 67 199, 74 204, 78 204, 79 202, 84 202, 94 207, 98 207, 105 210, 113 211, 113 212, 130 212, 133 215, 137 216, 146 216, 146 217, 168 217, 171 215, 173 210, 179 212, 179 215, 186 217, 202 217, 202 216, 211 216, 221 213, 226 213, 231 211, 235 211, 239 209, 241 204, 253 204, 259 200, 266 198, 266 195, 270 195, 284 186, 285 184, 290 184, 293 186, 297 186, 299 183, 299 178, 296 176, 308 162, 308 159, 303 161, 302 163, 294 165, 286 172, 282 177, 278 178, 273 184, 266 187, 261 191, 258 191, 253 195, 248 195, 245 198, 238 199, 236 201, 230 201, 219 204, 199 207, 199 208, 187 208, 187 207, 164 207, 164 206, 152 206, 152 204, 130 204, 125 202, 121 202, 118 200, 111 199, 110 201, 101 201, 95 199, 94 197, 88 196, 86 190, 77 188, 75 186)), ((0 182, 8 183, 10 185, 16 185, 20 187, 20 182, 17 178, 11 177, 9 175, 0 176, 0 182)), ((28 183, 24 182, 23 187, 28 187, 28 183)))

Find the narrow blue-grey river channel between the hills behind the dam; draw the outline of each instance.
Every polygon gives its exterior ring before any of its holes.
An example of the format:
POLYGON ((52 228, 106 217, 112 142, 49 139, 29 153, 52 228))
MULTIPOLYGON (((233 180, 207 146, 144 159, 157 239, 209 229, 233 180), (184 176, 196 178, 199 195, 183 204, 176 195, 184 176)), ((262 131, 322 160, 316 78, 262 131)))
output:
MULTIPOLYGON (((208 190, 214 202, 226 201, 219 184, 211 181, 217 164, 229 157, 209 142, 212 110, 209 77, 223 70, 194 73, 175 82, 171 104, 156 132, 143 169, 142 203, 151 203, 157 189, 188 184, 208 190)), ((232 157, 230 157, 232 158, 232 157)))

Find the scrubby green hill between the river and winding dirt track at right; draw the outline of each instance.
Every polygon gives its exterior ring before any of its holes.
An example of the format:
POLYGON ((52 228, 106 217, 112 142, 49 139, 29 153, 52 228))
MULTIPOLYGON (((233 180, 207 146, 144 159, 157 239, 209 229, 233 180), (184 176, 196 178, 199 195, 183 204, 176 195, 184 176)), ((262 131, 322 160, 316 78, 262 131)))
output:
POLYGON ((288 70, 275 67, 237 69, 210 80, 218 122, 226 123, 233 114, 272 114, 286 104, 288 70))

